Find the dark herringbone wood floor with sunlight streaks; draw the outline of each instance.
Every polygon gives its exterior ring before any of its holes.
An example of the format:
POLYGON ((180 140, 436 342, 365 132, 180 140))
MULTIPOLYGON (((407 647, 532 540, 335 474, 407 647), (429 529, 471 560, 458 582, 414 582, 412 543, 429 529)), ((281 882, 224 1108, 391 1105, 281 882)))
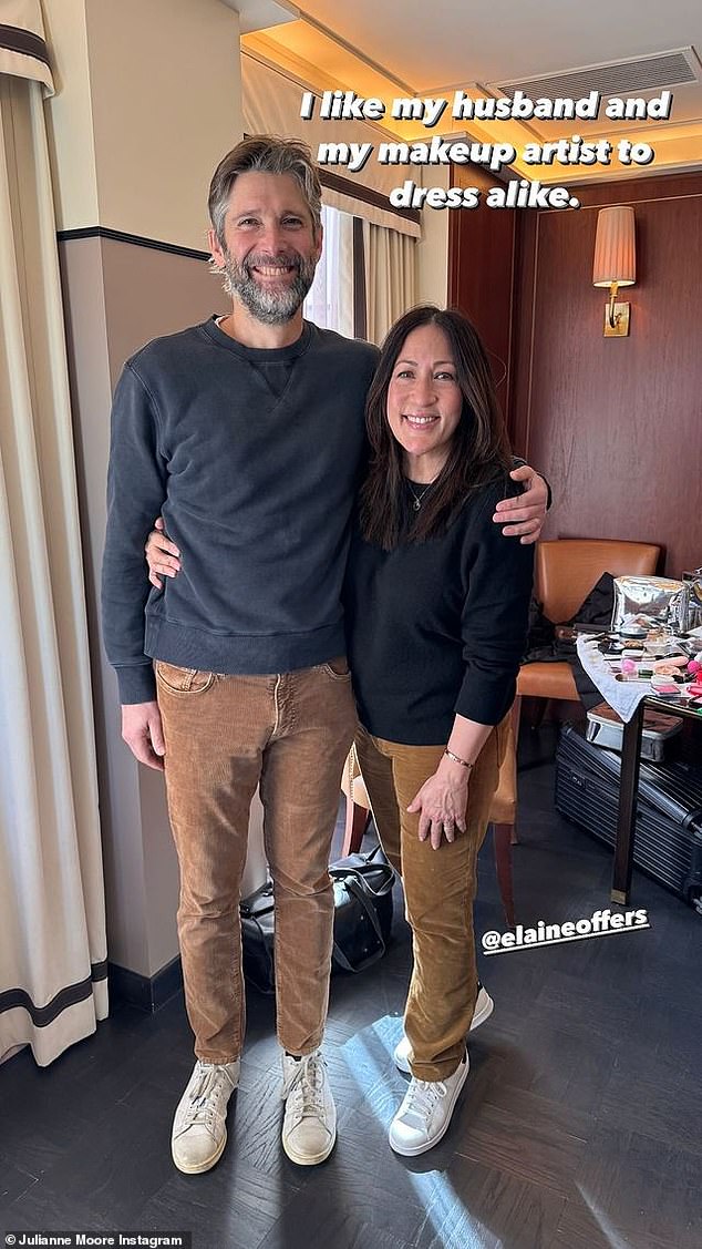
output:
MULTIPOLYGON (((550 729, 522 742, 549 754, 550 729)), ((517 919, 557 922, 608 904, 611 856, 562 821, 554 768, 520 779, 517 919)), ((192 1230, 195 1249, 698 1249, 702 1244, 702 919, 635 873, 651 931, 483 958, 495 998, 471 1074, 431 1153, 397 1158, 387 1129, 404 1089, 400 1034, 409 938, 333 982, 327 1053, 338 1145, 296 1168, 278 1133, 269 999, 249 995, 229 1143, 207 1175, 170 1158, 191 1064, 182 999, 117 1009, 46 1070, 0 1068, 4 1230, 192 1230)), ((504 929, 490 848, 476 932, 504 929)))

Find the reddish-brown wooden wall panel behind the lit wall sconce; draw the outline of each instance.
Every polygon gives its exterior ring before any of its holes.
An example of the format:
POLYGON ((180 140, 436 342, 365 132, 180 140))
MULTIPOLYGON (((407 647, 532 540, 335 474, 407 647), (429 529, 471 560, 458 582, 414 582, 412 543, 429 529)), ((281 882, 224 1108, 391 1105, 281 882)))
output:
POLYGON ((702 177, 582 200, 519 222, 514 441, 554 486, 550 536, 658 542, 677 575, 702 563, 702 177), (628 338, 602 336, 606 292, 591 285, 597 206, 611 202, 636 206, 628 338))

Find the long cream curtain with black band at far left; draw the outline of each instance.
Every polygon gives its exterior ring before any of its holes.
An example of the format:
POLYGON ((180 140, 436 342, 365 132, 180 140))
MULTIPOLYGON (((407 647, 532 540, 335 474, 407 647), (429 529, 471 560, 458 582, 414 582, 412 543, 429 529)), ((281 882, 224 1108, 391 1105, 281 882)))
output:
POLYGON ((27 60, 0 62, 0 1058, 45 1065, 107 1014, 107 952, 50 82, 27 60))

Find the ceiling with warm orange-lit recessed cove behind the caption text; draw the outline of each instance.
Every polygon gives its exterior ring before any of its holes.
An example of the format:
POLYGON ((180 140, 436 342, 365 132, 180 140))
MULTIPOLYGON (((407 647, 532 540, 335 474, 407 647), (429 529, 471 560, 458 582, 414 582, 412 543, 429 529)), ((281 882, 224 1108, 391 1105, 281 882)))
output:
MULTIPOLYGON (((525 164, 520 155, 511 169, 542 182, 600 181, 603 177, 642 176, 702 167, 702 2, 667 0, 643 6, 641 0, 304 0, 299 9, 277 0, 288 10, 282 25, 246 35, 242 45, 253 55, 283 67, 303 87, 353 90, 382 99, 389 112, 397 96, 454 100, 461 90, 473 99, 512 95, 499 84, 570 74, 610 62, 631 62, 683 50, 693 81, 670 85, 672 107, 666 120, 610 120, 603 115, 611 96, 660 96, 667 81, 652 90, 630 89, 630 66, 620 70, 625 85, 602 91, 597 120, 485 121, 453 120, 450 105, 433 129, 420 122, 382 125, 389 136, 405 141, 430 141, 436 135, 468 135, 475 140, 512 144, 521 154, 525 144, 572 139, 611 139, 611 164, 525 164), (655 150, 652 164, 622 165, 617 140, 643 141, 655 150)), ((681 59, 682 61, 682 59, 681 59)), ((658 62, 653 61, 653 66, 658 62)), ((587 94, 581 80, 580 97, 587 94)), ((529 89, 537 99, 539 85, 529 89)), ((550 92, 554 94, 554 92, 550 92)), ((329 135, 342 139, 342 134, 329 135)))

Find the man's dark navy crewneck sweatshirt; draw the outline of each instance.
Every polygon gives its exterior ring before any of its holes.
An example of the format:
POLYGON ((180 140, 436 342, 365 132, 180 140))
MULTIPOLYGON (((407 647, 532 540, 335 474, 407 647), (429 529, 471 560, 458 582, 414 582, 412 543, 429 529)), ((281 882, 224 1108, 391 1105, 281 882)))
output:
POLYGON ((213 320, 157 338, 115 393, 102 616, 122 703, 155 698, 153 658, 291 672, 344 652, 342 583, 378 350, 304 323, 256 350, 213 320), (150 588, 163 516, 182 571, 150 588))

